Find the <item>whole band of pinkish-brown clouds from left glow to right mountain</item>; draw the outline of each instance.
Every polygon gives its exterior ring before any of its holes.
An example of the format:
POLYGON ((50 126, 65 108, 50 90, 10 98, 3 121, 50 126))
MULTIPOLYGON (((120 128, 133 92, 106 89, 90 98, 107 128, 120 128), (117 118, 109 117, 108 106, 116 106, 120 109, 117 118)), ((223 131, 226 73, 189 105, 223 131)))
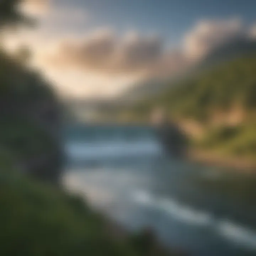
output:
MULTIPOLYGON (((250 34, 256 32, 251 30, 250 34)), ((48 64, 62 68, 104 73, 144 73, 171 75, 187 68, 224 43, 249 37, 241 20, 203 20, 185 34, 180 49, 170 50, 156 35, 128 32, 117 36, 111 28, 101 28, 84 38, 64 40, 47 56, 48 64)))

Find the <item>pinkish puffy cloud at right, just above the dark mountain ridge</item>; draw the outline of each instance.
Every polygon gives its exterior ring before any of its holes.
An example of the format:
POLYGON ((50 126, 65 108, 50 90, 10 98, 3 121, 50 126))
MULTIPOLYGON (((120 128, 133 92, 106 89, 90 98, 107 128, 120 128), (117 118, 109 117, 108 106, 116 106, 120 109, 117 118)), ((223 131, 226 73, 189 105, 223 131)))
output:
POLYGON ((241 20, 204 20, 186 34, 184 50, 188 58, 200 59, 224 43, 246 37, 241 20))

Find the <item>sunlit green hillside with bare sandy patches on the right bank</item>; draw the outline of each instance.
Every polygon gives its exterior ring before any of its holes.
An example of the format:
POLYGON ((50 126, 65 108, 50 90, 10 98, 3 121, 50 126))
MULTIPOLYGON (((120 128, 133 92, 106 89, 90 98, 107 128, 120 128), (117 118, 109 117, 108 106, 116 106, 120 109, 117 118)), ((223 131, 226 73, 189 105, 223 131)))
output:
POLYGON ((163 107, 178 121, 204 130, 196 145, 230 155, 256 155, 256 55, 240 57, 194 75, 161 95, 139 102, 122 116, 146 119, 163 107), (232 119, 237 120, 230 120, 232 119))

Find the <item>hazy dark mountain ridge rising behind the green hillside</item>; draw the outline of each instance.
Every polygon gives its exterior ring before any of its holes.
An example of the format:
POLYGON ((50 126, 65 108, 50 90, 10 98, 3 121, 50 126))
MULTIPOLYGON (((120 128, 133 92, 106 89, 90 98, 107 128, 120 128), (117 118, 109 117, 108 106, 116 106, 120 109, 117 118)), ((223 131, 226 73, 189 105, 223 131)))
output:
POLYGON ((193 77, 204 70, 210 69, 224 62, 250 55, 256 52, 256 41, 254 39, 239 38, 227 42, 218 48, 215 48, 206 55, 199 63, 195 63, 180 74, 165 78, 150 78, 138 84, 133 85, 127 91, 119 95, 118 99, 124 101, 139 102, 145 98, 154 97, 161 94, 168 88, 175 86, 179 81, 193 77))

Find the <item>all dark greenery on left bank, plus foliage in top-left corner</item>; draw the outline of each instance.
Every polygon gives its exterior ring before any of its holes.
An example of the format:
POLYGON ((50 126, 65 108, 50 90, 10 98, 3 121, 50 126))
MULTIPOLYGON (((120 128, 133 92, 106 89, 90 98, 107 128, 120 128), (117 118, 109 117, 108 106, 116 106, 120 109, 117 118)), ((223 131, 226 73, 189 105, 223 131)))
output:
MULTIPOLYGON (((19 2, 0 2, 0 26, 22 20, 19 2)), ((150 255, 129 235, 114 238, 103 217, 57 186, 62 108, 23 56, 0 50, 0 255, 150 255)))

